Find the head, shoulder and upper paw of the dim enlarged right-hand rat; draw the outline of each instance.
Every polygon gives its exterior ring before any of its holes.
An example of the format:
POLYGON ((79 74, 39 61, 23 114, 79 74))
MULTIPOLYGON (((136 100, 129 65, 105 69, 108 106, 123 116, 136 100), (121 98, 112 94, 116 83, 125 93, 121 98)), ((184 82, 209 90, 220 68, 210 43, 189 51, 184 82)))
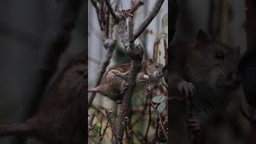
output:
POLYGON ((196 89, 229 91, 240 84, 239 49, 209 38, 201 30, 194 42, 170 48, 170 86, 186 96, 196 89))

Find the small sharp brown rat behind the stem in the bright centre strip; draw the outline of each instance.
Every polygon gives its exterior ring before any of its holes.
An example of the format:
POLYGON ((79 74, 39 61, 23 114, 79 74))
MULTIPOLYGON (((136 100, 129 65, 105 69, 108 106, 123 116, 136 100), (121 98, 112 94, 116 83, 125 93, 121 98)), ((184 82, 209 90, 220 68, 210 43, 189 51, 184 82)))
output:
MULTIPOLYGON (((153 87, 154 84, 160 82, 163 76, 162 68, 162 64, 154 62, 151 58, 148 61, 142 62, 136 76, 135 84, 138 85, 142 82, 145 83, 145 80, 149 80, 150 87, 153 87)), ((114 100, 114 102, 121 103, 123 94, 129 86, 127 83, 129 70, 130 63, 111 66, 110 69, 103 74, 99 86, 89 89, 88 92, 98 92, 114 100)), ((135 90, 138 91, 137 88, 135 90)))

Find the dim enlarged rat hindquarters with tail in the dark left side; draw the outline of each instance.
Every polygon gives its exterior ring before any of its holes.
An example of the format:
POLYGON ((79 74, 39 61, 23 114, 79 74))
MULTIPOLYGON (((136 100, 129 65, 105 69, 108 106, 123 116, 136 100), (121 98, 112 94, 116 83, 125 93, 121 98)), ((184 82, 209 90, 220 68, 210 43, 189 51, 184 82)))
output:
POLYGON ((0 136, 38 138, 54 144, 86 143, 87 57, 71 58, 47 86, 34 116, 26 122, 0 125, 0 136))

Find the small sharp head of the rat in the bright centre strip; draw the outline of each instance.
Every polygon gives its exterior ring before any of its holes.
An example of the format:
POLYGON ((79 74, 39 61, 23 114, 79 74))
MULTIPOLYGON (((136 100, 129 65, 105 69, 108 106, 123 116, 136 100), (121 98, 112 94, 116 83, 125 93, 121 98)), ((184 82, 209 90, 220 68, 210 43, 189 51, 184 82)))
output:
POLYGON ((150 76, 150 79, 159 79, 162 78, 162 64, 159 64, 158 62, 154 62, 153 59, 150 58, 149 61, 146 62, 145 65, 145 72, 150 76))

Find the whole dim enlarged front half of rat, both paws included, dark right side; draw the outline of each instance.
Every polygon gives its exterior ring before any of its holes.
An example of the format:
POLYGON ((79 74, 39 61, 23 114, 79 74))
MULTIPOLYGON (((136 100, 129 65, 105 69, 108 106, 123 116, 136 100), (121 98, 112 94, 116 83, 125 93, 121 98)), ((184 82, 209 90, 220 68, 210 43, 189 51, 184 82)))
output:
POLYGON ((199 132, 212 115, 225 113, 230 95, 240 86, 240 50, 217 42, 202 30, 193 42, 168 50, 170 65, 164 73, 170 92, 176 90, 191 99, 194 116, 188 119, 188 126, 199 132))

